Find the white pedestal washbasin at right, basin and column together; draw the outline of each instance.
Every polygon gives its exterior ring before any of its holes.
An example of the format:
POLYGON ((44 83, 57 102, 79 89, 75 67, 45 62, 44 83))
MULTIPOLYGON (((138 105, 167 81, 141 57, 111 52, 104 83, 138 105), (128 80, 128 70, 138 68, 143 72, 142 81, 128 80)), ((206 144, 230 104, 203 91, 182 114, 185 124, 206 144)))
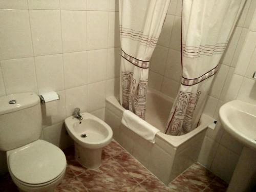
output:
POLYGON ((224 129, 244 144, 227 191, 251 191, 256 187, 256 105, 233 100, 221 106, 224 129))

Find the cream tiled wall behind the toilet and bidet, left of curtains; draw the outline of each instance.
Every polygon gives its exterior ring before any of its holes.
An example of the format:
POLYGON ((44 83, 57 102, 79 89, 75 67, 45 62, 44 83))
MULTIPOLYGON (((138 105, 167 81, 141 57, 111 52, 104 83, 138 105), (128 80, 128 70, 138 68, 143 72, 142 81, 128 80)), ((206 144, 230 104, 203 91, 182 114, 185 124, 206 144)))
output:
POLYGON ((118 14, 118 0, 0 0, 0 96, 56 91, 44 139, 67 146, 63 120, 76 107, 104 119, 119 88, 118 14))

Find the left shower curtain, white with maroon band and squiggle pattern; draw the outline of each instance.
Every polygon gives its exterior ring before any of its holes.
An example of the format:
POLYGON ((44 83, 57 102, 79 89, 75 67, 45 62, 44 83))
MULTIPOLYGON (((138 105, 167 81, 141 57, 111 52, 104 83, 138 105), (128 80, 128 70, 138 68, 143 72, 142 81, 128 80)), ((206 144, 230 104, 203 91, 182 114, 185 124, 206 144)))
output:
POLYGON ((148 67, 170 0, 119 0, 120 103, 145 118, 148 67))

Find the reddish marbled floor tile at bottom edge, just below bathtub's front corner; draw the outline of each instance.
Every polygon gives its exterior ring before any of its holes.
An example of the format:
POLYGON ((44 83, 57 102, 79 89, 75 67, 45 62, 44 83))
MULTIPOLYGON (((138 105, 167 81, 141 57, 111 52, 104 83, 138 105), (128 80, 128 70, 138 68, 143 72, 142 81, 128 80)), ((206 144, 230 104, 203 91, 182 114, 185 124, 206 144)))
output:
POLYGON ((170 189, 165 186, 160 180, 156 177, 151 176, 150 178, 146 179, 142 183, 140 183, 142 187, 144 187, 148 192, 169 192, 170 189))

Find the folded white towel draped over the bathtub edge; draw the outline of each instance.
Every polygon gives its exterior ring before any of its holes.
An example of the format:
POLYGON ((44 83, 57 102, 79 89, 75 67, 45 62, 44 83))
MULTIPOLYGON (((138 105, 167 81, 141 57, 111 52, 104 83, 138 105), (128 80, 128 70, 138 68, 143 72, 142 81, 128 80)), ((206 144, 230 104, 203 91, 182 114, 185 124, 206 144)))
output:
POLYGON ((160 132, 129 110, 124 110, 121 123, 151 143, 155 143, 156 134, 160 132))

